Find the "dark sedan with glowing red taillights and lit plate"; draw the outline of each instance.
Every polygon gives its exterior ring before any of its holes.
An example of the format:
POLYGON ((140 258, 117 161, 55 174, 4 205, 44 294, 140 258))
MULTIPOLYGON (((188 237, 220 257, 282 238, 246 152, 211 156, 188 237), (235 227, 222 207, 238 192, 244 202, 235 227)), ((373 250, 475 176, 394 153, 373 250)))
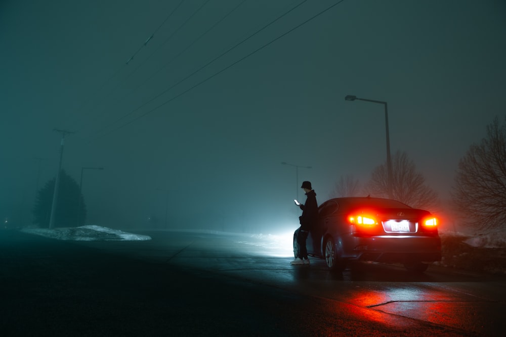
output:
MULTIPOLYGON (((297 229, 293 253, 297 257, 297 229)), ((343 271, 347 261, 402 263, 424 272, 441 260, 437 219, 430 212, 391 199, 349 197, 330 199, 318 208, 309 232, 308 255, 325 258, 331 270, 343 271)))

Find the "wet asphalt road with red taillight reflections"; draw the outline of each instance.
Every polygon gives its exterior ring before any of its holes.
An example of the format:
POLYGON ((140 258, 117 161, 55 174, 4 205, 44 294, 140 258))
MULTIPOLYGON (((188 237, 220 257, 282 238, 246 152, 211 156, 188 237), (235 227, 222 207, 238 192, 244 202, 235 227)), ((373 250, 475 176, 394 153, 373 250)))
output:
POLYGON ((5 336, 502 335, 504 276, 289 257, 244 237, 142 232, 62 242, 0 232, 5 336))

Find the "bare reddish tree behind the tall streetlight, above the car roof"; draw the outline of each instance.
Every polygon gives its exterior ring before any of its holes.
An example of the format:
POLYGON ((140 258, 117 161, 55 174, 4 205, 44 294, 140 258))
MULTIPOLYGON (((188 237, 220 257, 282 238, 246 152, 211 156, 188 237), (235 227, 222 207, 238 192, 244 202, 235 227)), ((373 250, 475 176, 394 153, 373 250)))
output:
MULTIPOLYGON (((425 183, 424 176, 416 172, 413 161, 405 152, 392 156, 392 197, 406 205, 434 211, 439 207, 438 194, 425 183)), ((371 197, 388 198, 387 165, 377 166, 364 191, 371 197)))

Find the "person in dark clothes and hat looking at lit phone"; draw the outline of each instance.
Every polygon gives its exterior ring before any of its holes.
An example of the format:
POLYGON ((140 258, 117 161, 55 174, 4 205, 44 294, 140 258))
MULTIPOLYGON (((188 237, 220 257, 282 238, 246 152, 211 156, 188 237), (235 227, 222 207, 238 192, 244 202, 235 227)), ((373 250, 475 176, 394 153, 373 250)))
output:
POLYGON ((301 228, 297 235, 297 243, 299 244, 299 256, 291 262, 291 264, 310 264, 308 258, 308 250, 306 249, 306 239, 309 231, 318 217, 318 204, 316 202, 316 193, 311 187, 310 181, 304 181, 301 186, 306 192, 306 203, 299 205, 302 215, 299 217, 301 228))

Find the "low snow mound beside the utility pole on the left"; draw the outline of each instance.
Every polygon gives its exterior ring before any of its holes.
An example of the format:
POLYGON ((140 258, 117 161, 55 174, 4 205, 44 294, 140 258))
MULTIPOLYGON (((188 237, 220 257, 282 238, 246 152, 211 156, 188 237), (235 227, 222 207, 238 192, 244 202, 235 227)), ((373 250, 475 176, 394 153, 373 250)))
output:
POLYGON ((62 228, 23 228, 21 231, 58 240, 71 241, 136 241, 150 240, 148 235, 132 234, 97 225, 62 228))

